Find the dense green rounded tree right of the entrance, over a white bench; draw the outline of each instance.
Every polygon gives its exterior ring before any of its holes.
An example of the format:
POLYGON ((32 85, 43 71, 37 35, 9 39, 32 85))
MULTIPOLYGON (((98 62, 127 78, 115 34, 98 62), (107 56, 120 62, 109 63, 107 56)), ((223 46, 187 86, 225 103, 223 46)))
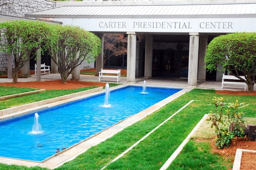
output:
POLYGON ((221 64, 227 70, 248 85, 253 91, 256 75, 256 33, 232 33, 215 37, 208 45, 205 55, 206 69, 216 70, 221 64), (245 76, 245 79, 239 77, 245 76))

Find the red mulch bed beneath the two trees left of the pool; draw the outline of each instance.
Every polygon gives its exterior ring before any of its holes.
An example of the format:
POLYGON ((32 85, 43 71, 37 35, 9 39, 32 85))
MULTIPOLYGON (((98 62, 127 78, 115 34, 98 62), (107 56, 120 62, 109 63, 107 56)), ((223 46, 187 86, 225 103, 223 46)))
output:
POLYGON ((53 81, 28 81, 18 83, 0 83, 1 86, 12 86, 12 87, 28 87, 35 89, 47 89, 47 90, 61 90, 61 89, 79 89, 89 86, 104 87, 106 83, 100 82, 85 82, 85 81, 67 81, 67 84, 61 84, 61 80, 53 81))

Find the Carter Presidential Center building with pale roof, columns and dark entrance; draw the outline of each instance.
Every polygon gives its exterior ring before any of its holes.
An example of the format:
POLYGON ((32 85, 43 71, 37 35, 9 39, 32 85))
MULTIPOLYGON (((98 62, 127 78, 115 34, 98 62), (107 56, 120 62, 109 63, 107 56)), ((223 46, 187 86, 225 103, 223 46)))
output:
MULTIPOLYGON (((220 81, 223 72, 206 72, 204 55, 216 36, 232 32, 256 32, 255 0, 158 0, 56 2, 55 8, 25 14, 36 18, 80 26, 98 35, 128 36, 127 81, 187 79, 220 81)), ((103 44, 102 44, 103 51, 103 44)), ((103 68, 103 53, 96 60, 103 68)), ((217 66, 221 68, 221 66, 217 66)), ((56 70, 52 62, 51 68, 56 70)), ((72 78, 79 79, 79 69, 72 78)))

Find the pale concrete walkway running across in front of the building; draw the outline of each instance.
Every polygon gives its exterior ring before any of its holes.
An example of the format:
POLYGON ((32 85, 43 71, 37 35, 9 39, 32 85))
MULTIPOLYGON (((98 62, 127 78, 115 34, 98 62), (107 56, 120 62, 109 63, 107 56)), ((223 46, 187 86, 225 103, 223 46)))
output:
MULTIPOLYGON (((59 80, 61 79, 60 74, 42 74, 41 81, 49 81, 49 80, 59 80)), ((71 79, 71 75, 69 75, 68 80, 71 79)), ((105 83, 116 83, 114 79, 107 79, 103 81, 105 83)), ((99 77, 94 75, 83 75, 80 74, 80 81, 93 81, 98 82, 99 77)), ((36 76, 32 75, 30 78, 19 78, 18 82, 26 82, 26 81, 36 81, 36 76)), ((134 84, 143 85, 143 78, 136 78, 134 84)), ((12 79, 0 79, 1 82, 12 82, 12 79)), ((121 82, 123 84, 127 84, 126 77, 121 77, 121 82)), ((153 78, 147 80, 147 85, 150 86, 164 86, 164 87, 175 87, 175 88, 182 88, 187 87, 188 82, 187 79, 180 79, 180 80, 171 80, 166 78, 153 78)), ((206 81, 206 82, 197 82, 197 88, 202 89, 216 89, 216 90, 239 90, 243 91, 243 85, 226 85, 225 88, 221 89, 221 82, 216 81, 206 81)), ((254 86, 254 90, 256 90, 256 86, 254 86)))

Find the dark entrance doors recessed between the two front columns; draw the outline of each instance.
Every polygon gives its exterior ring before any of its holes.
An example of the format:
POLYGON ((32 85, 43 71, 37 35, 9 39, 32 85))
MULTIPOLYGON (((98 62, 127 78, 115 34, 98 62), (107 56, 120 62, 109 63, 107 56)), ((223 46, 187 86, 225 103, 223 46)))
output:
POLYGON ((188 50, 153 50, 152 76, 187 78, 188 50))

